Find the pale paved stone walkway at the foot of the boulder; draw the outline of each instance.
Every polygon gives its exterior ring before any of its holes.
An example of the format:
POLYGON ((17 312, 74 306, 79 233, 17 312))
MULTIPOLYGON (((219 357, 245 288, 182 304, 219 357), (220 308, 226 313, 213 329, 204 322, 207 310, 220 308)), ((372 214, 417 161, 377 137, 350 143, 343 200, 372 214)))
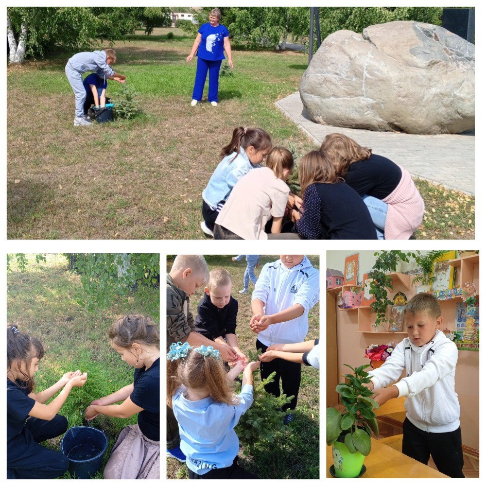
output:
POLYGON ((316 145, 320 146, 329 133, 340 132, 360 145, 371 147, 373 153, 400 164, 414 177, 474 194, 473 130, 461 135, 410 135, 320 125, 309 119, 298 92, 279 100, 276 105, 316 145))

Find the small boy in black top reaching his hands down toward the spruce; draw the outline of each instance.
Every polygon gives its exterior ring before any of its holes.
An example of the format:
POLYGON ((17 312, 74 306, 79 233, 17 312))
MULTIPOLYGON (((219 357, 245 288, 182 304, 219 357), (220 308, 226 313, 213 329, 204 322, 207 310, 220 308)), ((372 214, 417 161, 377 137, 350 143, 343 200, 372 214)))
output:
POLYGON ((232 288, 233 282, 227 270, 215 268, 209 272, 208 286, 197 306, 196 331, 215 343, 229 344, 238 354, 238 359, 246 363, 247 358, 236 337, 238 301, 231 296, 232 288))

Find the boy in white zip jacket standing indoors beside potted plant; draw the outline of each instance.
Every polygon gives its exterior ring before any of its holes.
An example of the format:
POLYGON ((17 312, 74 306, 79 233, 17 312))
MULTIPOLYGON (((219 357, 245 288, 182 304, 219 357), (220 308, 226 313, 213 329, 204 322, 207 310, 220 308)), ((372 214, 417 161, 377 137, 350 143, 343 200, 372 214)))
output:
POLYGON ((430 294, 411 298, 403 309, 408 338, 373 375, 370 390, 382 405, 391 398, 407 397, 402 452, 451 478, 464 478, 459 400, 454 389, 457 347, 438 328, 442 324, 437 299, 430 294), (406 377, 394 385, 403 370, 406 377))

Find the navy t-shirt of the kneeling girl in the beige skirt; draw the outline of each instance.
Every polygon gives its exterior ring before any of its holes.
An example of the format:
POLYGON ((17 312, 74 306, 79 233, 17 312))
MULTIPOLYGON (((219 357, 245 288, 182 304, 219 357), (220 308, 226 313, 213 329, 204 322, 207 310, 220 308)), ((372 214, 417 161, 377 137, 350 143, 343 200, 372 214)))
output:
POLYGON ((160 358, 149 369, 137 368, 133 374, 130 399, 143 410, 139 413, 139 428, 150 440, 160 440, 160 358))

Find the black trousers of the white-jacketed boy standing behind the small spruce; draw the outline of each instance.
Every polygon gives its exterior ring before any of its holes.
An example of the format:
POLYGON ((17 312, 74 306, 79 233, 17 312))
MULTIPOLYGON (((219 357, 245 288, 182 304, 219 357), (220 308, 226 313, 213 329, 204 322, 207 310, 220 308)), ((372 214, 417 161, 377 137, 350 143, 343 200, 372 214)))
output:
MULTIPOLYGON (((267 346, 257 339, 257 349, 264 353, 267 346)), ((275 358, 268 363, 260 362, 260 377, 262 380, 268 378, 271 373, 276 371, 273 383, 265 386, 265 390, 275 397, 280 396, 280 380, 282 381, 282 390, 287 397, 294 395, 290 403, 283 407, 283 410, 295 410, 297 406, 297 396, 300 388, 300 363, 291 363, 290 361, 275 358)))

